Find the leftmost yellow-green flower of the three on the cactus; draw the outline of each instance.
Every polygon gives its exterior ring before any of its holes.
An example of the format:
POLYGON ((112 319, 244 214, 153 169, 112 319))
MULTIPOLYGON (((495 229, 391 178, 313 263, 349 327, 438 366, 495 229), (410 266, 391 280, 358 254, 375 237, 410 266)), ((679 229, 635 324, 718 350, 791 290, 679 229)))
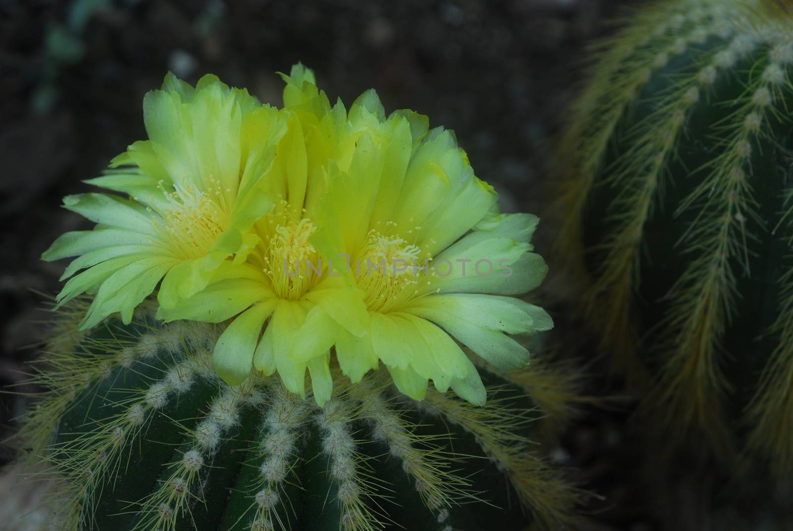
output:
POLYGON ((259 180, 285 132, 278 110, 213 75, 193 89, 169 73, 162 90, 146 94, 144 121, 150 140, 86 181, 129 198, 67 196, 65 208, 97 225, 63 234, 42 256, 78 256, 57 302, 95 292, 81 329, 115 312, 128 323, 163 276, 183 296, 199 291, 209 272, 250 243, 253 221, 273 206, 259 180))

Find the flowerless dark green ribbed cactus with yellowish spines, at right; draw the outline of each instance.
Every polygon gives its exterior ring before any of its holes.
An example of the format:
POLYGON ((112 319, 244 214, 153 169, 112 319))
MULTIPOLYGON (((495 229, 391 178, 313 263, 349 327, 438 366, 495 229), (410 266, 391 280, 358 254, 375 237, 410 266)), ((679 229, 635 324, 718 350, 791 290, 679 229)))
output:
POLYGON ((652 384, 665 439, 789 479, 793 19, 779 3, 660 2, 596 48, 562 143, 560 240, 584 258, 603 350, 652 384))

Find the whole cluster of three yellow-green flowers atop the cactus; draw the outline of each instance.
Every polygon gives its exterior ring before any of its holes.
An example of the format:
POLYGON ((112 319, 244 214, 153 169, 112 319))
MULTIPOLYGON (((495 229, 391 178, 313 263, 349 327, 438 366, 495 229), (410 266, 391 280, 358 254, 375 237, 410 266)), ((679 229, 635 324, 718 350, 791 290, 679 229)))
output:
POLYGON ((77 256, 59 304, 92 293, 83 328, 116 312, 128 322, 159 286, 158 318, 228 322, 213 353, 228 383, 278 372, 305 394, 308 369, 321 405, 333 353, 353 382, 382 362, 412 398, 432 380, 483 404, 461 344, 517 369, 528 352, 508 334, 552 326, 510 296, 545 275, 529 243, 537 217, 500 214, 453 133, 426 116, 386 117, 374 90, 331 106, 300 64, 282 77, 283 109, 213 75, 193 88, 169 74, 146 95, 149 140, 88 181, 118 194, 64 198, 97 225, 44 252, 77 256))

